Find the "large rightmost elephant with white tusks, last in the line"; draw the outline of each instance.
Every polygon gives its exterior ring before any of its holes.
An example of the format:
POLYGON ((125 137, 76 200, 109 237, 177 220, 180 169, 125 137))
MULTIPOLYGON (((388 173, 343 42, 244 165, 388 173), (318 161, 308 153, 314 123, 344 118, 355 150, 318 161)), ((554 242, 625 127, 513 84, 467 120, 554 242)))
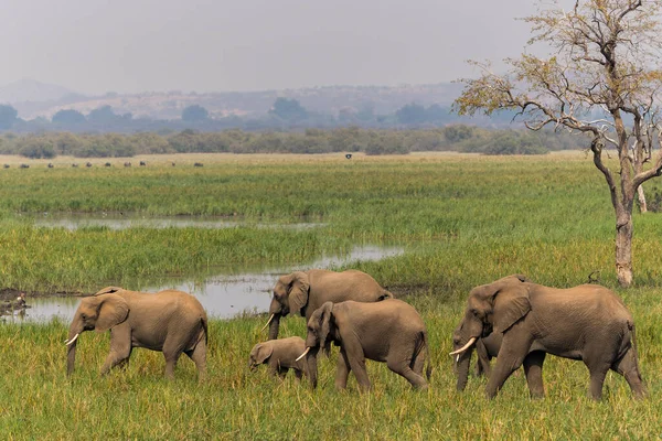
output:
POLYGON ((488 398, 496 396, 522 365, 531 396, 544 396, 546 354, 583 361, 590 374, 589 396, 595 400, 602 398, 609 369, 626 378, 637 398, 647 394, 634 321, 621 299, 605 287, 556 289, 526 281, 521 275, 476 287, 459 325, 463 346, 451 355, 461 356, 478 338, 493 332, 502 333, 503 341, 485 388, 488 398))

